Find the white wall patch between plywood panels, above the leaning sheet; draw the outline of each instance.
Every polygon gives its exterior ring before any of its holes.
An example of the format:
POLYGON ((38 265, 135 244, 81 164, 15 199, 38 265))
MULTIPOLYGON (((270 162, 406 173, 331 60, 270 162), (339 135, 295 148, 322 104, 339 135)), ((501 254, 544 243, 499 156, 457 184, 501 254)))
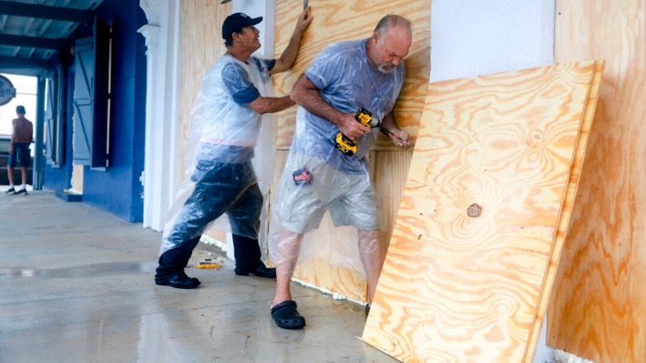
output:
POLYGON ((555 0, 433 0, 431 82, 554 63, 555 0))

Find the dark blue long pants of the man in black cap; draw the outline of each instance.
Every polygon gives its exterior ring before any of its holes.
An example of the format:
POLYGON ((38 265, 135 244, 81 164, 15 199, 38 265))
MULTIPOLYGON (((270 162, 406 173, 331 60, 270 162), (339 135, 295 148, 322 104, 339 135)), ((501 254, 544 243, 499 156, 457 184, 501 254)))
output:
POLYGON ((236 270, 251 271, 262 264, 258 245, 262 194, 251 162, 200 161, 191 180, 195 191, 169 233, 173 247, 159 257, 155 281, 167 281, 184 271, 207 225, 223 213, 231 222, 236 270))

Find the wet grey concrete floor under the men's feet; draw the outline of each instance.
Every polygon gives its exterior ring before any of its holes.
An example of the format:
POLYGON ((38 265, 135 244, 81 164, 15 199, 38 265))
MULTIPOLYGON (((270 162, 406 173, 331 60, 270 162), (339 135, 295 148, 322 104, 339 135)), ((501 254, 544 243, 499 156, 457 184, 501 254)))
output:
POLYGON ((361 306, 299 285, 307 327, 276 327, 275 282, 231 261, 190 268, 195 290, 154 285, 160 239, 53 192, 0 195, 0 362, 395 362, 356 338, 361 306))

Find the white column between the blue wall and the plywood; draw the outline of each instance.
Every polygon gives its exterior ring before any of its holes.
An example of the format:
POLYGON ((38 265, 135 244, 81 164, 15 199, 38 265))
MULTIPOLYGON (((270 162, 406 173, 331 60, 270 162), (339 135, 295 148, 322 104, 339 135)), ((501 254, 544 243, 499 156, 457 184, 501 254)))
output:
MULTIPOLYGON (((179 0, 140 0, 149 24, 138 32, 146 37, 146 155, 144 161, 144 227, 163 229, 172 197, 171 185, 177 179, 177 142, 179 127, 179 82, 176 54, 179 0)), ((180 44, 180 43, 179 43, 180 44)))

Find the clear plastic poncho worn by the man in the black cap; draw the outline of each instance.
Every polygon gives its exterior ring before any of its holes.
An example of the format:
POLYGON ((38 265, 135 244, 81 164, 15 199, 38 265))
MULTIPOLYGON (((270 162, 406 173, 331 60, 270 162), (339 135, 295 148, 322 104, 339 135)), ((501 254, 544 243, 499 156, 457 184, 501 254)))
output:
POLYGON ((254 239, 264 230, 260 221, 267 221, 263 200, 273 180, 276 119, 236 103, 231 84, 253 83, 261 96, 273 97, 268 65, 256 57, 244 63, 222 56, 202 78, 190 112, 186 177, 170 208, 159 254, 206 230, 254 239))

